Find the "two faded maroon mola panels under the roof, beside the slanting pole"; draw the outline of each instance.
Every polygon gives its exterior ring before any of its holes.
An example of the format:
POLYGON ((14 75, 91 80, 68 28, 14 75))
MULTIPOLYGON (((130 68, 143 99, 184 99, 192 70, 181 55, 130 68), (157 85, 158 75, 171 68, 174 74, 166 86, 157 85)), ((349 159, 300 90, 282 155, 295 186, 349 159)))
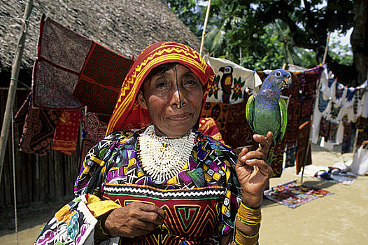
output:
POLYGON ((45 109, 78 109, 73 97, 78 73, 92 41, 43 15, 34 64, 34 106, 45 109), (51 96, 52 95, 52 96, 51 96))

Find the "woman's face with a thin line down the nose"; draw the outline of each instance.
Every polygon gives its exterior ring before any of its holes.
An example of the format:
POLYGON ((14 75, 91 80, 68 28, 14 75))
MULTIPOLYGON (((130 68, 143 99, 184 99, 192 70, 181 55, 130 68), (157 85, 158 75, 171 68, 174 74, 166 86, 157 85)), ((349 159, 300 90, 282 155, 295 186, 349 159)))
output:
POLYGON ((197 76, 186 66, 176 64, 145 80, 138 102, 143 109, 148 109, 156 134, 174 139, 189 132, 197 123, 202 97, 197 76))

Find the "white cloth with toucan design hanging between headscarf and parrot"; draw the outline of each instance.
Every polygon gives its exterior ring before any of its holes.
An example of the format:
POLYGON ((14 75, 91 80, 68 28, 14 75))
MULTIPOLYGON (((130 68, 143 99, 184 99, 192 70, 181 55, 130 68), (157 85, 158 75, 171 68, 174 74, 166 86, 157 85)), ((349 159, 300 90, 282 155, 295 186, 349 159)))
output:
POLYGON ((227 59, 204 56, 215 72, 213 85, 208 92, 207 102, 237 104, 243 101, 246 88, 255 90, 262 84, 258 74, 227 59))

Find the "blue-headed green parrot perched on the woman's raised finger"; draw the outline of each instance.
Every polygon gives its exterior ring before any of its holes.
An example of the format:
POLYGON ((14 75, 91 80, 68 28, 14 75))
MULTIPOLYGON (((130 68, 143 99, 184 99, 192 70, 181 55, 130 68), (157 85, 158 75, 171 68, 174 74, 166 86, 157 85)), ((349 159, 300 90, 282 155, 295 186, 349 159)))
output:
MULTIPOLYGON (((255 134, 274 134, 274 145, 283 139, 288 123, 286 102, 280 97, 281 90, 291 85, 291 74, 274 70, 264 80, 260 92, 251 95, 246 104, 246 119, 255 134)), ((272 158, 273 149, 269 153, 272 158)), ((270 162, 270 159, 268 159, 270 162)), ((271 162, 270 162, 271 163, 271 162)))

